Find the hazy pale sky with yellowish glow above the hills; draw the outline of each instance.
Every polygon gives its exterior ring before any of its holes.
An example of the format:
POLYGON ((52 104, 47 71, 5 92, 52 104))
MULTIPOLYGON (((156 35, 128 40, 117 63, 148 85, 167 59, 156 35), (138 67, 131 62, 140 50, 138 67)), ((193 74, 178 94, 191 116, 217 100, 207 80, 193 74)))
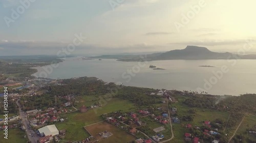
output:
POLYGON ((256 53, 255 0, 26 1, 0 0, 0 55, 56 54, 80 33, 87 39, 72 54, 237 52, 247 39, 256 53))

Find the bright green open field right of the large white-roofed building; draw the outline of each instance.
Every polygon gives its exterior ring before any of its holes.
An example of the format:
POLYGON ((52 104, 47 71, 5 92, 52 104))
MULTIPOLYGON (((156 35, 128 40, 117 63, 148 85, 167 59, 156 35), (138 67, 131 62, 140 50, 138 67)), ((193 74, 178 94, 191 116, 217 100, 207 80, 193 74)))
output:
POLYGON ((110 113, 117 110, 133 111, 137 110, 137 108, 130 101, 113 98, 108 101, 105 106, 98 108, 97 112, 95 112, 94 109, 91 109, 83 113, 80 111, 67 113, 68 120, 56 123, 56 127, 59 130, 67 130, 66 140, 75 141, 74 136, 76 136, 76 140, 81 140, 90 136, 86 131, 84 131, 83 126, 100 122, 103 120, 101 117, 103 113, 110 113))

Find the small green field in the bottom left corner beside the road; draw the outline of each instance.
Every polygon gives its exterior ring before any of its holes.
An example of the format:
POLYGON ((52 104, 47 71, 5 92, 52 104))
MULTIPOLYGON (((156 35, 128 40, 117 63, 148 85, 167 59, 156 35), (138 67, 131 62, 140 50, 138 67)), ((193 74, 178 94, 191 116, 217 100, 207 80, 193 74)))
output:
POLYGON ((8 130, 8 139, 4 138, 4 131, 0 131, 0 142, 1 143, 26 143, 27 138, 24 138, 26 133, 23 130, 17 129, 10 129, 8 130))

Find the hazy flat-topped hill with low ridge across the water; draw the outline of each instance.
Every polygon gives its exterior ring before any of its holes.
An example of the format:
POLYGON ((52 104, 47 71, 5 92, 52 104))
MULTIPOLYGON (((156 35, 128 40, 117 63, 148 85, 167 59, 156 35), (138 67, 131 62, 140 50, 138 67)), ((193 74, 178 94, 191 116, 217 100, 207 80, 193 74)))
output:
MULTIPOLYGON (((238 55, 230 52, 212 52, 205 47, 199 46, 187 46, 185 49, 171 50, 167 52, 152 53, 143 56, 146 61, 156 60, 218 60, 218 59, 256 59, 256 54, 238 55)), ((102 55, 91 58, 113 58, 118 61, 139 61, 141 57, 139 55, 102 55)))

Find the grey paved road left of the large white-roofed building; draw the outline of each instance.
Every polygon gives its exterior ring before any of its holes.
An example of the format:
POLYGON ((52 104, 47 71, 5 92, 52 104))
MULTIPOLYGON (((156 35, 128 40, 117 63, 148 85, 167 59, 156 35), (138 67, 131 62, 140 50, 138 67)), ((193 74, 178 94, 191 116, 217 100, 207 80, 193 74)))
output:
POLYGON ((18 106, 18 110, 19 110, 19 118, 22 119, 22 123, 23 125, 26 127, 26 133, 28 136, 28 139, 32 142, 32 143, 37 143, 37 140, 40 138, 37 134, 33 134, 29 128, 29 121, 26 117, 26 113, 22 110, 22 108, 20 107, 20 104, 18 103, 19 100, 17 100, 16 104, 18 106), (30 135, 31 134, 31 135, 30 135), (32 137, 33 135, 33 137, 32 137))

